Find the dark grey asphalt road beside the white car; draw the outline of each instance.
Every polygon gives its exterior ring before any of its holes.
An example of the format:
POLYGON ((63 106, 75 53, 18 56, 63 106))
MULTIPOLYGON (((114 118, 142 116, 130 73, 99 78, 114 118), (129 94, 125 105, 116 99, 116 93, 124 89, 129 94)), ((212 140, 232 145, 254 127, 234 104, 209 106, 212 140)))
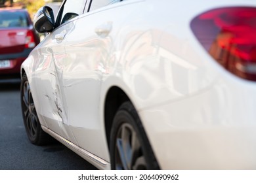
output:
POLYGON ((96 169, 59 142, 35 146, 26 136, 20 80, 0 80, 0 170, 96 169))

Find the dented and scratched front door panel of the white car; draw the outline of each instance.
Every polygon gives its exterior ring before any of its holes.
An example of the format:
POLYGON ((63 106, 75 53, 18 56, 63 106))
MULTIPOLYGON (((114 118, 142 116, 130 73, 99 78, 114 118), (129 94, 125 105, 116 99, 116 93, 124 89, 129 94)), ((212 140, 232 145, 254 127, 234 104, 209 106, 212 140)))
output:
POLYGON ((68 127, 68 113, 66 97, 62 92, 62 62, 65 58, 64 38, 72 29, 74 22, 58 27, 45 39, 39 50, 36 66, 37 94, 40 98, 40 107, 37 111, 47 124, 47 127, 65 139, 75 143, 74 137, 68 127), (39 84, 41 83, 41 84, 39 84))

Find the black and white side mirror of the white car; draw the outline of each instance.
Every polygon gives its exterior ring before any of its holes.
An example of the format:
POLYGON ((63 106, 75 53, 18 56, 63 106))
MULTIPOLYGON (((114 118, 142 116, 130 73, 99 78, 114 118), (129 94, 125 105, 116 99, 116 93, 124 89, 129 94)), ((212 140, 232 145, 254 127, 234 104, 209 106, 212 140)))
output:
POLYGON ((39 33, 49 33, 55 27, 53 9, 50 7, 41 7, 33 18, 33 26, 39 33))

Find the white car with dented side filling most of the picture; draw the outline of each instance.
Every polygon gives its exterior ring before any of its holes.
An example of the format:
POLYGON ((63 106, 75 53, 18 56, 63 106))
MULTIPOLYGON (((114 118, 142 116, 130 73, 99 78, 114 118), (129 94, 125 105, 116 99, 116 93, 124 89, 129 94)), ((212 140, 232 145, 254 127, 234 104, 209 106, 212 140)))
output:
POLYGON ((33 144, 98 169, 256 169, 255 0, 66 0, 34 26, 33 144))

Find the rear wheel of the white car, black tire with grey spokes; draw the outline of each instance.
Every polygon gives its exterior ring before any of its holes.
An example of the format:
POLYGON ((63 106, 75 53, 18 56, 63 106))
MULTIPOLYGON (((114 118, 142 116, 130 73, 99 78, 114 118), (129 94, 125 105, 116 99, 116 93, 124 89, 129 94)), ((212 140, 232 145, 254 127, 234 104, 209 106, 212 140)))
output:
POLYGON ((123 103, 114 117, 110 159, 112 169, 160 169, 131 102, 123 103))

